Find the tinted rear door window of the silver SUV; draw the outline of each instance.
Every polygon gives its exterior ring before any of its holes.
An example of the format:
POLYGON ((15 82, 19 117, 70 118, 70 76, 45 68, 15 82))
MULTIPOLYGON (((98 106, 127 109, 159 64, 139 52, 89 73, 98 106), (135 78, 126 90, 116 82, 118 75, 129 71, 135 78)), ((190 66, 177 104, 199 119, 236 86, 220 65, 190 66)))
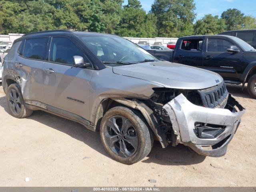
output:
POLYGON ((27 39, 24 47, 24 57, 45 60, 48 38, 27 39))

